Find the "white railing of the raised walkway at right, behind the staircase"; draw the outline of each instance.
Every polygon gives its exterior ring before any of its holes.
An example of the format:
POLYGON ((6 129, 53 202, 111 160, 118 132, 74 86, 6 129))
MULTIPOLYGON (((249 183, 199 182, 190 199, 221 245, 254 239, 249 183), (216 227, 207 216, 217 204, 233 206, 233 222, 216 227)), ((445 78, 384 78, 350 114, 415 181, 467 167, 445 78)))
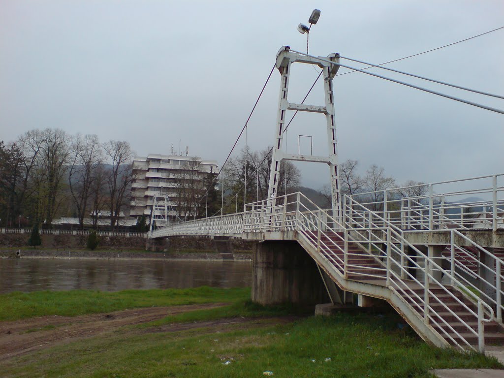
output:
POLYGON ((504 174, 350 196, 401 229, 504 228, 504 174))

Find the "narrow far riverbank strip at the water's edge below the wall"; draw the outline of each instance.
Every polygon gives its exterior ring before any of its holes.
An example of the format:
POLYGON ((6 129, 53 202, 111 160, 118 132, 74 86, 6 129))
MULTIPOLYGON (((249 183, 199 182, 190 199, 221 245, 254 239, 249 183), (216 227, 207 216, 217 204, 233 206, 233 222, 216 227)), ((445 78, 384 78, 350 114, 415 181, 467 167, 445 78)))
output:
MULTIPOLYGON (((249 251, 234 251, 235 261, 251 261, 252 254, 249 251)), ((230 256, 228 256, 229 258, 230 256)), ((28 248, 5 248, 0 249, 0 259, 21 258, 21 259, 143 259, 143 260, 222 260, 220 253, 215 253, 212 249, 186 249, 169 250, 166 252, 150 252, 143 249, 28 249, 28 248)))

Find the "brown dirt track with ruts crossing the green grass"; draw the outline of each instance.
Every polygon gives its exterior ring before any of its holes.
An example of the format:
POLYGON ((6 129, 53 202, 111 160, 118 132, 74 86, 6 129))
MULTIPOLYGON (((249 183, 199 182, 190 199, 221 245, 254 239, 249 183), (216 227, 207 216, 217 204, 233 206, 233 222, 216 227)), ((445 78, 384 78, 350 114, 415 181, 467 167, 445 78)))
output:
MULTIPOLYGON (((49 316, 2 322, 0 323, 0 361, 55 344, 109 333, 119 327, 147 323, 181 312, 224 305, 226 303, 148 307, 78 317, 49 316)), ((197 325, 193 324, 193 328, 197 325)))

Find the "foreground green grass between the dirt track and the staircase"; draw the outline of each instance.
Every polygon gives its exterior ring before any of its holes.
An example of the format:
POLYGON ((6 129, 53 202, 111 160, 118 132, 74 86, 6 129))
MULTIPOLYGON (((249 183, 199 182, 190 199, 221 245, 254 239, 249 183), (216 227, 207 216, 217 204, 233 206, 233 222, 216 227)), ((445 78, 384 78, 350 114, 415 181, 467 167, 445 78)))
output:
MULTIPOLYGON (((192 290, 178 290, 178 302, 182 297, 189 302, 187 296, 193 292, 191 303, 232 303, 9 359, 2 362, 2 376, 213 378, 260 377, 272 371, 274 377, 413 378, 429 377, 431 368, 502 367, 493 358, 425 344, 407 327, 398 327, 403 321, 395 313, 341 313, 331 318, 285 320, 271 317, 284 316, 291 309, 252 304, 247 301, 248 290, 216 289, 218 299, 207 295, 214 289, 192 290), (226 294, 229 296, 223 300, 226 294), (236 316, 241 323, 194 323, 236 316), (191 327, 170 330, 176 323, 191 327)), ((145 304, 154 300, 153 292, 164 297, 163 305, 170 302, 169 296, 177 296, 177 290, 169 291, 169 295, 167 290, 115 294, 124 301, 145 304), (142 302, 143 294, 151 298, 142 302)), ((78 295, 82 297, 83 293, 78 295)), ((95 298, 101 295, 105 302, 107 295, 114 293, 90 294, 95 298)), ((33 295, 47 298, 48 293, 33 295)), ((73 292, 58 295, 59 300, 65 300, 65 295, 73 298, 73 292)), ((176 298, 173 302, 179 304, 176 298)), ((84 309, 81 307, 81 312, 84 309)))

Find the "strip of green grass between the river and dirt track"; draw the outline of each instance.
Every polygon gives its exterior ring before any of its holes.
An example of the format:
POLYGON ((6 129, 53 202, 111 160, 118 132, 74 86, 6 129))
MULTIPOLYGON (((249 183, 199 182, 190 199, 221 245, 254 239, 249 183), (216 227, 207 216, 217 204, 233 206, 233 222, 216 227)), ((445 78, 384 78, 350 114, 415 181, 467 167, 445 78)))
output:
POLYGON ((77 316, 134 307, 234 302, 250 297, 249 288, 91 290, 13 292, 0 295, 0 321, 48 315, 77 316))

